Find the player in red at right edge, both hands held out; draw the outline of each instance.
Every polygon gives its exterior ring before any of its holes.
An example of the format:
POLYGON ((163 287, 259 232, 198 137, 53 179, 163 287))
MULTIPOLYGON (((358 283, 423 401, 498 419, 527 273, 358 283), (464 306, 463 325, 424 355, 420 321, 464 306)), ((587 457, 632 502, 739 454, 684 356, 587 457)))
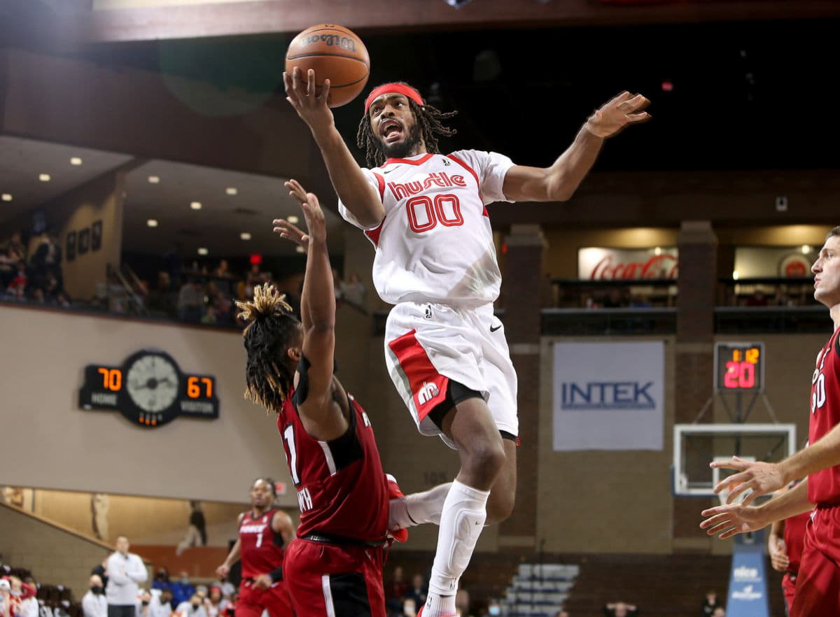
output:
POLYGON ((811 378, 810 446, 780 463, 751 463, 737 457, 711 463, 738 473, 715 487, 718 493, 731 489, 727 504, 704 510, 702 514, 708 518, 700 525, 710 536, 725 539, 816 505, 806 526, 791 617, 840 614, 840 227, 828 233, 811 271, 815 275, 814 297, 831 312, 834 332, 817 354, 811 378), (750 505, 759 495, 805 477, 794 489, 762 505, 750 505), (732 503, 747 490, 752 493, 743 503, 732 503))

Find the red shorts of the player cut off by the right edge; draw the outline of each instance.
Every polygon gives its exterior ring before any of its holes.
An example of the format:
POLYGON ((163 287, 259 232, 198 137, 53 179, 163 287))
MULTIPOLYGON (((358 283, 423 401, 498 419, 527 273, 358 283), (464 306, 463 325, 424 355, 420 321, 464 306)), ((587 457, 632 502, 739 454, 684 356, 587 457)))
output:
POLYGON ((840 506, 817 507, 806 526, 790 617, 837 615, 840 615, 840 506))

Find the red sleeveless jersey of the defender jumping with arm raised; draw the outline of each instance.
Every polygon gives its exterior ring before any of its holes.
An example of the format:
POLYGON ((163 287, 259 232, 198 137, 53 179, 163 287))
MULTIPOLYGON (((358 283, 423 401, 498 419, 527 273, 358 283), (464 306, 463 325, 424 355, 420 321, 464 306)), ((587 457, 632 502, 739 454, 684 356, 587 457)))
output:
POLYGON ((388 491, 379 450, 365 410, 347 395, 349 428, 322 442, 303 428, 294 391, 277 416, 286 462, 297 489, 301 523, 297 536, 312 532, 362 541, 383 541, 388 527, 388 491))

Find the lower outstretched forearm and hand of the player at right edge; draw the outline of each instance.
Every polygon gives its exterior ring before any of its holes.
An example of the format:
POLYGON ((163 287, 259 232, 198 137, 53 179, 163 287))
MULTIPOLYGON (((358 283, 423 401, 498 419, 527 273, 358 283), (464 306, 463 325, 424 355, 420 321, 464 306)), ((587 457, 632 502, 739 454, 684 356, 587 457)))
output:
POLYGON ((709 536, 718 536, 719 539, 726 540, 739 533, 762 529, 774 520, 807 512, 813 507, 808 501, 806 480, 759 506, 725 504, 703 510, 701 515, 707 518, 701 522, 700 528, 706 530, 709 536))

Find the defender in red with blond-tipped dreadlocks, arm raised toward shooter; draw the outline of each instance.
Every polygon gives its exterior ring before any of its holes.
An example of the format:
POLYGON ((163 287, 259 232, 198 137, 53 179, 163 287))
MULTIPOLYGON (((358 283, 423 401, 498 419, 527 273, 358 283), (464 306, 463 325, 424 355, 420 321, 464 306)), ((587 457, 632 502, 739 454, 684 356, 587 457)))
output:
POLYGON ((297 181, 286 186, 308 230, 274 222, 307 250, 301 322, 270 285, 238 303, 249 322, 247 395, 277 413, 301 510, 284 578, 298 615, 385 617, 389 488, 370 419, 333 375, 335 295, 323 211, 297 181))

